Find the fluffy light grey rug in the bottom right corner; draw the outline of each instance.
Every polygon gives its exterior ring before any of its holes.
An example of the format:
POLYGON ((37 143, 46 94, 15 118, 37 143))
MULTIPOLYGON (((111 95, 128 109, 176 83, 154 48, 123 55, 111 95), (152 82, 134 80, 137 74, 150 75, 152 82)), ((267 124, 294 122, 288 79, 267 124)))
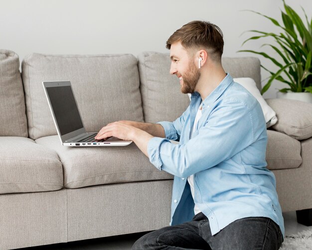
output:
POLYGON ((312 229, 286 236, 280 250, 312 250, 312 229))

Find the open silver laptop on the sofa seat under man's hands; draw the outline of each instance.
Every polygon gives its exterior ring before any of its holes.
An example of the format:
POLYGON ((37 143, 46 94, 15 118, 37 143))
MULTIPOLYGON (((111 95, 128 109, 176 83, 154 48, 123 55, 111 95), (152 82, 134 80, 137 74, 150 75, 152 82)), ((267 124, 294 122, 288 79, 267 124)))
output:
POLYGON ((97 132, 86 132, 70 81, 42 82, 57 134, 69 147, 127 146, 132 141, 116 137, 95 140, 97 132))

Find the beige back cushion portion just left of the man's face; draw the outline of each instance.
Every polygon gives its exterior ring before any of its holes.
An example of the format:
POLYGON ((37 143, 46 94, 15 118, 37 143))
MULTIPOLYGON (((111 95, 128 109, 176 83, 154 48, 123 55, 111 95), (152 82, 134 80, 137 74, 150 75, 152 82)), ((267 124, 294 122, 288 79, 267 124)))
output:
POLYGON ((185 111, 189 100, 181 93, 178 78, 169 74, 169 54, 143 52, 138 61, 145 122, 175 120, 185 111))

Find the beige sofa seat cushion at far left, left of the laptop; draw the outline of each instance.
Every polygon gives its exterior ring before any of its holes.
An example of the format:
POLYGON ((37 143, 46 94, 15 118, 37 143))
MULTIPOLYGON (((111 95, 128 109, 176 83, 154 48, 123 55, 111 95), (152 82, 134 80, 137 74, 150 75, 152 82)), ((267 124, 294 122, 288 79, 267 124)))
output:
POLYGON ((0 194, 63 188, 63 170, 55 151, 24 137, 0 137, 0 194))

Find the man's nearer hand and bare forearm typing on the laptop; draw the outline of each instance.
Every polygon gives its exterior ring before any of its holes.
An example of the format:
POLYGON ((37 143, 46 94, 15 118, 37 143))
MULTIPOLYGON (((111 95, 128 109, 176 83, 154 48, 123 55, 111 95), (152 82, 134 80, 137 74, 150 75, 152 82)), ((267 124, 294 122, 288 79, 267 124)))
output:
POLYGON ((138 148, 147 156, 148 155, 148 143, 154 136, 149 133, 131 126, 125 122, 113 122, 103 127, 99 133, 95 136, 96 140, 101 140, 107 137, 117 137, 122 140, 134 141, 138 148))

